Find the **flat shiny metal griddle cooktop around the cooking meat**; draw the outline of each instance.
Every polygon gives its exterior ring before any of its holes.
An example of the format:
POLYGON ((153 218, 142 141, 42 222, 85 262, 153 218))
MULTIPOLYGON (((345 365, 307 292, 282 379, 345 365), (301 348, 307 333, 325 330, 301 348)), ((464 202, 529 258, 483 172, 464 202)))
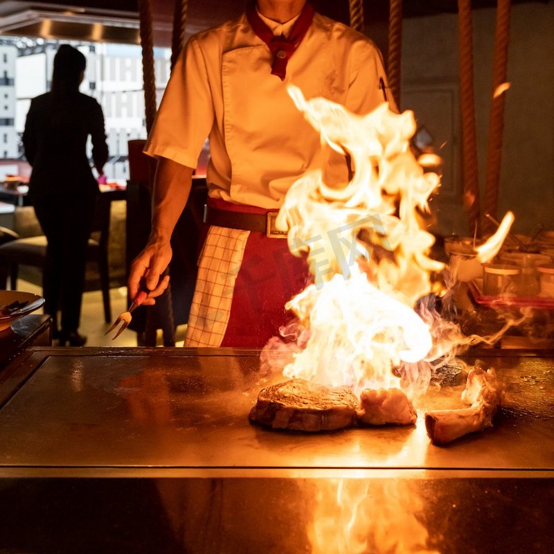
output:
MULTIPOLYGON (((249 410, 267 384, 258 354, 37 349, 0 389, 0 471, 554 470, 551 357, 481 357, 499 370, 508 405, 493 429, 436 447, 424 411, 414 427, 299 434, 251 425, 249 410)), ((425 402, 461 407, 462 389, 445 386, 425 402)))

